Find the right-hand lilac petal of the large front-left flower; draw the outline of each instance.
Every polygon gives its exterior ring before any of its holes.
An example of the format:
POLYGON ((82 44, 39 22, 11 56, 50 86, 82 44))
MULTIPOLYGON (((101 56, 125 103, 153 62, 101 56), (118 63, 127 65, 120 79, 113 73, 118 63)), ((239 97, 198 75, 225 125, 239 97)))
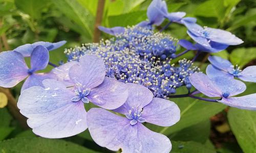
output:
POLYGON ((89 100, 104 109, 116 109, 122 106, 128 96, 126 85, 113 78, 105 77, 102 84, 91 89, 89 100))

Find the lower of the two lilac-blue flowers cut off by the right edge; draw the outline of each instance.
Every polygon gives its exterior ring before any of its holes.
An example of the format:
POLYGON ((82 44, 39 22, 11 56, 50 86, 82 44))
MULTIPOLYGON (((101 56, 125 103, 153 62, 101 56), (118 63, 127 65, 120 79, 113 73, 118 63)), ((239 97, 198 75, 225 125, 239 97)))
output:
POLYGON ((191 84, 208 97, 221 97, 218 102, 239 109, 256 110, 256 93, 241 97, 232 97, 245 91, 246 86, 239 80, 225 77, 209 79, 203 73, 190 75, 191 84))

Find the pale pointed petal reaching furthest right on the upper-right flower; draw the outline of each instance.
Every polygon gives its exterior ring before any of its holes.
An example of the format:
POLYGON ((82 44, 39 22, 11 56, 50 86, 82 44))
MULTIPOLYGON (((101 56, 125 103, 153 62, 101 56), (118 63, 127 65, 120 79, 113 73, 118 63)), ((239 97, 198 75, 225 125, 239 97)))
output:
POLYGON ((205 30, 209 33, 208 38, 211 41, 219 42, 226 45, 239 45, 243 43, 243 40, 228 31, 214 28, 205 28, 205 30))

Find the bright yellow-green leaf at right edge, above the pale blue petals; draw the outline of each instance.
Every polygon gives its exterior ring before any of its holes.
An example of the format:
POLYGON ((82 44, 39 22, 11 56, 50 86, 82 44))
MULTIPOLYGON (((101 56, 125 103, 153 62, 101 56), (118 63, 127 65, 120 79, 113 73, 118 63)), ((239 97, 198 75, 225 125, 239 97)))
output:
POLYGON ((232 64, 243 67, 251 60, 256 59, 256 47, 250 48, 236 48, 230 54, 230 61, 232 64))

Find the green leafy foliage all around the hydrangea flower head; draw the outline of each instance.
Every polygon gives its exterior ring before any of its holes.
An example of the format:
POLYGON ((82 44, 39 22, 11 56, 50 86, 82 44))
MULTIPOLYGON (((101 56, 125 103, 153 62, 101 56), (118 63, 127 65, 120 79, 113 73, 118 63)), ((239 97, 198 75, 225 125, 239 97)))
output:
MULTIPOLYGON (((184 11, 187 16, 197 17, 201 25, 230 31, 244 40, 239 46, 217 53, 218 56, 242 67, 256 64, 254 0, 166 2, 169 12, 184 11)), ((51 62, 66 61, 64 48, 92 42, 97 3, 96 0, 0 0, 0 51, 35 41, 67 40, 65 46, 50 52, 51 62)), ((150 0, 106 0, 102 25, 126 27, 145 20, 150 3, 150 0)), ((172 24, 165 32, 179 39, 189 39, 182 25, 172 24)), ((102 38, 109 37, 102 34, 102 38)), ((192 56, 190 52, 181 58, 192 56)), ((203 71, 205 64, 201 62, 205 56, 201 55, 196 62, 203 71)), ((255 87, 247 83, 245 93, 254 93, 255 87)), ((20 86, 11 91, 17 98, 20 86)), ((255 152, 256 112, 191 98, 170 100, 180 107, 181 120, 168 128, 146 126, 168 136, 173 143, 172 152, 255 152)), ((10 112, 10 107, 0 109, 0 152, 108 152, 92 141, 88 130, 63 140, 38 138, 31 130, 24 129, 10 112)))

